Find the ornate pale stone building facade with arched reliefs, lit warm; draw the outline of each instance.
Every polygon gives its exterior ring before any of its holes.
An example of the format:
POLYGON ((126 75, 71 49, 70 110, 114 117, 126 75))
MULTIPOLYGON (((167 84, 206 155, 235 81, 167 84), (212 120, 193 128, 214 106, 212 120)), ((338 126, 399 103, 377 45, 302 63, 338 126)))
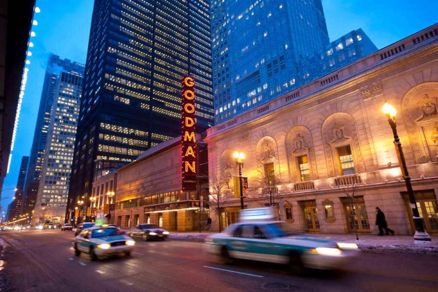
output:
MULTIPOLYGON (((238 175, 233 153, 243 152, 245 208, 260 207, 261 169, 282 182, 278 190, 287 192, 288 200, 279 218, 296 231, 351 232, 354 218, 359 232, 377 233, 375 207, 380 207, 396 233, 413 233, 392 130, 382 111, 388 102, 397 110, 425 228, 438 232, 437 29, 435 24, 210 128, 204 139, 210 174, 238 175), (338 186, 357 181, 362 185, 351 207, 338 186)), ((237 220, 239 209, 240 199, 228 202, 223 227, 237 220)))

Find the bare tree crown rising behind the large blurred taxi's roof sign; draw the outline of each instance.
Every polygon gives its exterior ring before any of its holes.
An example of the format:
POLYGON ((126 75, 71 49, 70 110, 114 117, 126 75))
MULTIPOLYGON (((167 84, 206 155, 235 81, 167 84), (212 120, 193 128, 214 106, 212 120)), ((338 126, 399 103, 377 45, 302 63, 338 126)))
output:
POLYGON ((280 175, 269 174, 266 166, 256 169, 257 175, 253 178, 256 191, 256 201, 262 207, 278 208, 288 202, 287 195, 291 192, 285 188, 286 182, 280 175))

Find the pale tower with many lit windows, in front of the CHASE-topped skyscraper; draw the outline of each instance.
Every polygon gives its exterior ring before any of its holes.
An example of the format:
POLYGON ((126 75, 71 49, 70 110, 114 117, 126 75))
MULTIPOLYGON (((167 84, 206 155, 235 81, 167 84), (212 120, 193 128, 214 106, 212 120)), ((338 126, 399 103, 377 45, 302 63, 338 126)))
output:
POLYGON ((83 78, 78 72, 63 71, 55 87, 55 100, 47 129, 43 167, 35 203, 36 206, 48 208, 44 219, 54 223, 64 223, 66 213, 82 81, 83 78))

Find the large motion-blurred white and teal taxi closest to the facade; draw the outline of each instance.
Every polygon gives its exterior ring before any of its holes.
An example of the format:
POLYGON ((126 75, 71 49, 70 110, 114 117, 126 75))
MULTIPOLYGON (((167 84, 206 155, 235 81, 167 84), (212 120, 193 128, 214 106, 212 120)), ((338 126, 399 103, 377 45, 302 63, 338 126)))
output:
POLYGON ((292 233, 285 222, 260 221, 231 225, 205 239, 204 251, 222 256, 226 264, 249 259, 290 265, 293 272, 307 268, 343 267, 358 255, 354 243, 340 243, 308 234, 292 233))

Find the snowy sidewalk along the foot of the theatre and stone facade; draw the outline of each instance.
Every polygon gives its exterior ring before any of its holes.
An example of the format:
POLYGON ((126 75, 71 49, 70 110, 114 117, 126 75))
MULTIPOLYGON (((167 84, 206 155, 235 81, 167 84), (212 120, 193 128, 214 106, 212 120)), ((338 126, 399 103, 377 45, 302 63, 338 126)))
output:
MULTIPOLYGON (((169 237, 173 238, 186 238, 196 241, 202 241, 203 238, 210 234, 216 234, 218 231, 171 231, 169 237)), ((438 234, 432 234, 432 241, 424 243, 415 243, 414 234, 396 234, 394 236, 384 235, 377 236, 377 234, 358 234, 359 240, 356 240, 354 233, 306 233, 310 236, 317 236, 327 238, 336 241, 356 243, 357 246, 364 252, 379 252, 379 251, 392 251, 403 253, 435 253, 438 255, 438 234)), ((429 234, 430 235, 430 234, 429 234)))

